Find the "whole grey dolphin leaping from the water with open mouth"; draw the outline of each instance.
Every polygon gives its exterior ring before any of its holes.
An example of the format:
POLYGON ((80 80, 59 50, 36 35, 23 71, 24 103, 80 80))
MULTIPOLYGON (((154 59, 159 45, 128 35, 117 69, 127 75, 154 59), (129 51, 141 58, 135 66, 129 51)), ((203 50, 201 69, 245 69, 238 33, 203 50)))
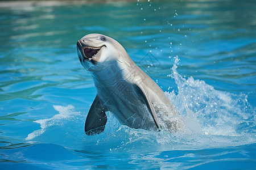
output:
POLYGON ((162 89, 131 60, 119 42, 92 33, 77 41, 77 54, 97 90, 85 121, 87 135, 104 131, 107 111, 134 129, 175 132, 182 126, 162 89))

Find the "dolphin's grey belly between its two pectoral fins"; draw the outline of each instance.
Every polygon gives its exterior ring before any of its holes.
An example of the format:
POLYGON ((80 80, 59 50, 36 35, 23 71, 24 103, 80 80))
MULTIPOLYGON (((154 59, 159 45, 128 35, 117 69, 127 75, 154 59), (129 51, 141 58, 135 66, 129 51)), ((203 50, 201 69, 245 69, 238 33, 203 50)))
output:
POLYGON ((97 87, 97 94, 121 124, 134 129, 156 129, 143 97, 133 84, 119 80, 110 86, 97 87))

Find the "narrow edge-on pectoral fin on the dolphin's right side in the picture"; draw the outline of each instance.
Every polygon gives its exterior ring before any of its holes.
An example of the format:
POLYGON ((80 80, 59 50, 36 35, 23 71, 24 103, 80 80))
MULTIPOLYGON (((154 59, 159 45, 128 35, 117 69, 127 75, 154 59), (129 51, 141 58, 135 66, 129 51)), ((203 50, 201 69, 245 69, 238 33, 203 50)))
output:
POLYGON ((153 120, 155 122, 156 128, 158 128, 158 130, 160 131, 160 125, 159 125, 159 122, 158 122, 158 117, 156 117, 155 109, 154 109, 154 107, 152 105, 152 102, 150 101, 147 93, 143 90, 143 88, 140 88, 138 86, 137 86, 137 88, 138 88, 139 93, 143 97, 143 100, 145 101, 148 110, 151 113, 151 116, 152 116, 152 118, 153 118, 153 120))

